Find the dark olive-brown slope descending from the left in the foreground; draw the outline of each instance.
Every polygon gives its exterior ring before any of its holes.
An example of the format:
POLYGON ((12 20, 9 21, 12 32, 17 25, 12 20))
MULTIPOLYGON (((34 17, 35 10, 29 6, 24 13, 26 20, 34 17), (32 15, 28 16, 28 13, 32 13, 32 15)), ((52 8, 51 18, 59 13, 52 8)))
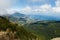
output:
MULTIPOLYGON (((6 35, 10 40, 21 39, 21 40, 32 40, 36 39, 36 35, 26 30, 23 26, 9 22, 5 17, 0 16, 0 31, 7 32, 6 35), (10 37, 11 36, 11 37, 10 37)), ((3 39, 5 40, 5 39, 3 39)))

